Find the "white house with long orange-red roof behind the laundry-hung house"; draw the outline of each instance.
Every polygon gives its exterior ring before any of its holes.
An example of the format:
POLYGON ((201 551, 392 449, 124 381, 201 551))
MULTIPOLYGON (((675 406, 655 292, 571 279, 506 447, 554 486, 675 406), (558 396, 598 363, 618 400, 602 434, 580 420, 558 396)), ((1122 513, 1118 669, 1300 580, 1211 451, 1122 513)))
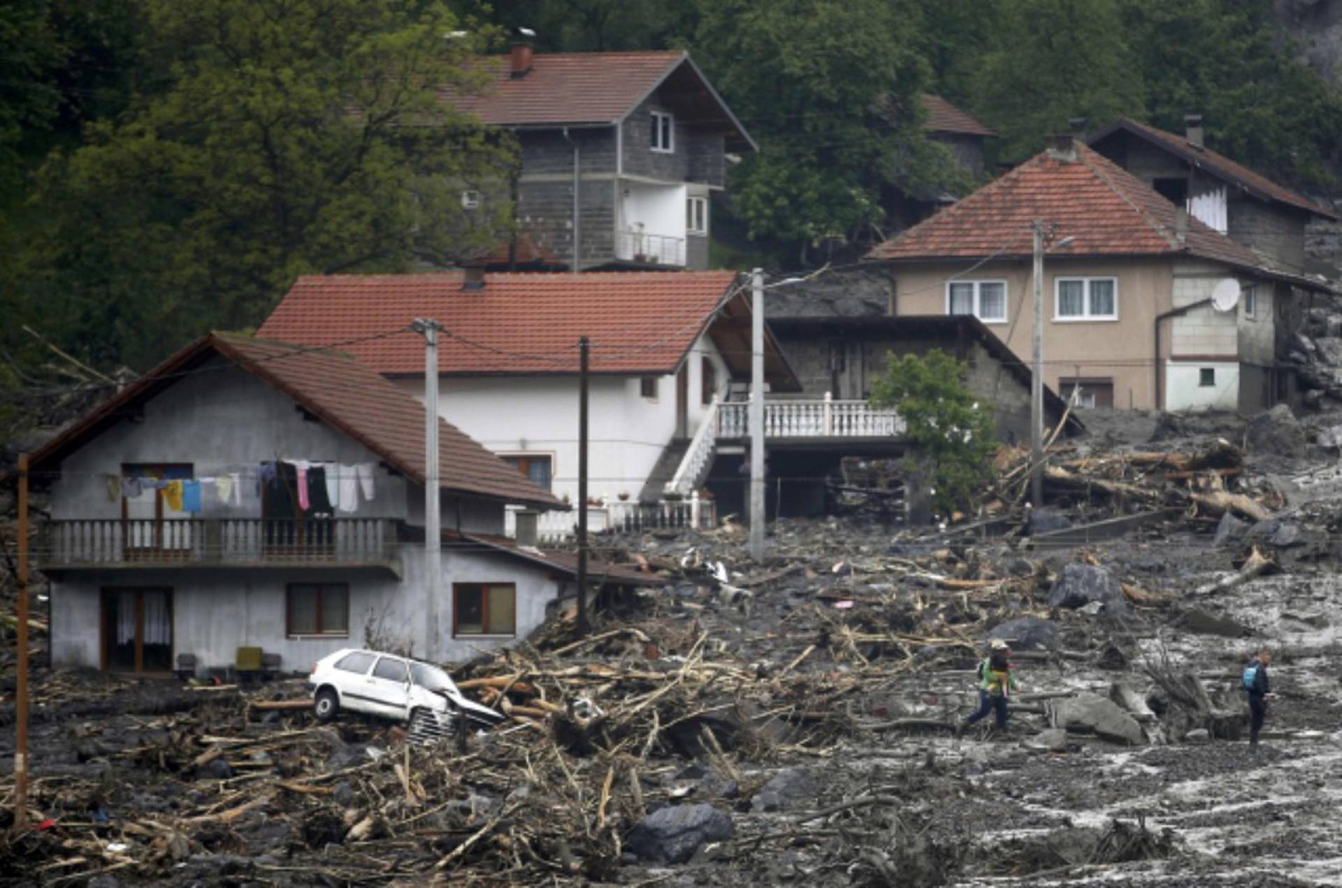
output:
MULTIPOLYGON (((423 339, 397 333, 415 318, 446 329, 439 414, 569 500, 578 338, 589 338, 588 490, 609 500, 603 507, 660 499, 715 401, 750 378, 750 294, 731 271, 306 276, 260 335, 348 342, 361 364, 423 398, 423 339)), ((796 390, 772 334, 765 349, 770 390, 796 390)))

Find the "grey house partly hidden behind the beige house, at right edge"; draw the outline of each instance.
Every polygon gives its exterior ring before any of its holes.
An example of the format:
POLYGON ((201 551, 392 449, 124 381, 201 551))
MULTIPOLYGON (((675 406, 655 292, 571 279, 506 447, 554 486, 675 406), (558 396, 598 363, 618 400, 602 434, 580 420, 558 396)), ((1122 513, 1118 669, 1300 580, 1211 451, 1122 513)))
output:
POLYGON ((1304 274, 1304 227, 1338 221, 1337 213, 1209 149, 1201 117, 1185 121, 1186 131, 1176 135, 1125 118, 1087 142, 1270 267, 1304 274))

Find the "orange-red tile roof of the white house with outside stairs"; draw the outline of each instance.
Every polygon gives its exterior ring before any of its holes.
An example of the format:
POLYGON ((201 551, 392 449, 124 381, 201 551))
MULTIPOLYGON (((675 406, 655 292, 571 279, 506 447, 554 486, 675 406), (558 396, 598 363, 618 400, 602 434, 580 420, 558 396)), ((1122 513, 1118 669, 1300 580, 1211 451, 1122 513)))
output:
MULTIPOLYGON (((484 282, 463 290, 455 271, 299 278, 258 335, 344 343, 378 373, 420 376, 417 334, 348 341, 432 318, 447 330, 439 341, 443 374, 573 374, 584 335, 593 373, 668 374, 706 329, 718 341, 731 334, 727 322, 749 317, 749 294, 734 271, 491 272, 484 282)), ((727 362, 749 373, 739 343, 726 350, 727 362)), ((766 372, 774 388, 796 385, 772 343, 766 372)))

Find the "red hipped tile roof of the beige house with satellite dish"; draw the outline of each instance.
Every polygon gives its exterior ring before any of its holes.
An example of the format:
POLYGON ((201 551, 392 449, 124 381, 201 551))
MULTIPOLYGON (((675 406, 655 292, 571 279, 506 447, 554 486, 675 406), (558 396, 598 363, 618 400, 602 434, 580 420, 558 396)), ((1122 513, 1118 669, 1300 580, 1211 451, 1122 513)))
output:
POLYGON ((1031 255, 1029 223, 1053 223, 1075 240, 1057 256, 1189 254, 1245 268, 1263 262, 1247 247, 1185 215, 1145 182, 1082 144, 1066 162, 1036 154, 1001 178, 875 247, 868 259, 1031 255))

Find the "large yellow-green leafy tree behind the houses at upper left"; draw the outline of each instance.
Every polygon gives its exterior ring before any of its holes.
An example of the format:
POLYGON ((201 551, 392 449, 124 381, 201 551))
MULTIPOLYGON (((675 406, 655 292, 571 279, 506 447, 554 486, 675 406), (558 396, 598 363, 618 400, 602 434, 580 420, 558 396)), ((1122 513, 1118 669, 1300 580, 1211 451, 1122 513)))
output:
POLYGON ((400 271, 498 243, 506 141, 439 90, 488 31, 415 0, 142 0, 148 85, 46 164, 30 292, 95 362, 145 366, 258 323, 299 274, 400 271))

